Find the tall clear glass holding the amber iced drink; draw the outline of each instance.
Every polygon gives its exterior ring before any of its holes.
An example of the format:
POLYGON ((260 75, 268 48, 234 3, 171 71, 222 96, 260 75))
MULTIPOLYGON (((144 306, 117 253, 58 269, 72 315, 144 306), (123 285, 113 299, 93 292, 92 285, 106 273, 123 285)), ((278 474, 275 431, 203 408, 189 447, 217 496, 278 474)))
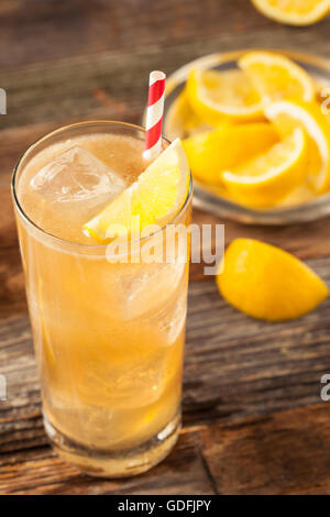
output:
MULTIPOLYGON (((64 241, 38 228, 18 195, 38 153, 100 133, 144 140, 142 128, 120 122, 59 129, 28 148, 12 191, 46 432, 58 453, 81 470, 125 476, 160 462, 178 437, 188 245, 185 260, 175 245, 172 261, 144 263, 141 251, 132 260, 132 246, 129 261, 118 262, 109 246, 64 241)), ((187 228, 190 212, 191 185, 170 226, 187 228)), ((157 245, 168 228, 157 232, 157 245)), ((187 244, 188 233, 185 239, 187 244)))

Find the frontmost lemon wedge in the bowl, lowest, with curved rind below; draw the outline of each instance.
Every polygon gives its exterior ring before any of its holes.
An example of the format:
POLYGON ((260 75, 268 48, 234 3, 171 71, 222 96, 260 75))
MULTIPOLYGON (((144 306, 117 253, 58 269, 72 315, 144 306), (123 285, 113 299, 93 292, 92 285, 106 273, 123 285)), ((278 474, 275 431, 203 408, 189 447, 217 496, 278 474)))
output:
POLYGON ((233 170, 222 180, 234 199, 254 208, 272 207, 305 180, 307 138, 301 129, 270 151, 233 170))

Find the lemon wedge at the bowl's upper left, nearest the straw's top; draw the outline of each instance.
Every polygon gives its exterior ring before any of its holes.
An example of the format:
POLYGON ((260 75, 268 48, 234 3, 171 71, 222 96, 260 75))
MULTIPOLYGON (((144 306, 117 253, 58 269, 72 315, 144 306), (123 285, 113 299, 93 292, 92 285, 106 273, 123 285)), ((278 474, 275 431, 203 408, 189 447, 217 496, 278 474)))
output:
POLYGON ((210 125, 264 120, 261 98, 242 70, 191 70, 186 88, 191 108, 210 125))

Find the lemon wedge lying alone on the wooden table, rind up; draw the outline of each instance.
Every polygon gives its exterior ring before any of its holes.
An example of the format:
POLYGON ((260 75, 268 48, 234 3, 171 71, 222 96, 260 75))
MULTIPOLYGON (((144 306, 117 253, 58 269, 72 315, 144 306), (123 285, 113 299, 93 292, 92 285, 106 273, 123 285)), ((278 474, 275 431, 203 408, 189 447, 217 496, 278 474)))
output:
POLYGON ((298 258, 253 239, 229 245, 217 284, 229 304, 268 321, 298 318, 329 295, 326 284, 298 258))

